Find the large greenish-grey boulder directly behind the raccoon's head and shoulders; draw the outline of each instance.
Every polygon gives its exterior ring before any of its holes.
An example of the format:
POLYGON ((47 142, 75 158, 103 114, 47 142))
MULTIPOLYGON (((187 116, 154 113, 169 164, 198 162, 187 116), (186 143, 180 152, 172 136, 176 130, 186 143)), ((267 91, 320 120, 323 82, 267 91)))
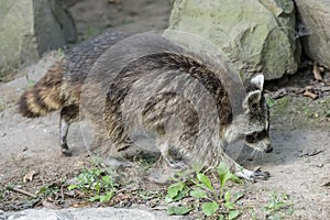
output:
POLYGON ((293 0, 176 0, 169 29, 210 40, 243 78, 264 73, 275 79, 297 70, 295 23, 293 0))

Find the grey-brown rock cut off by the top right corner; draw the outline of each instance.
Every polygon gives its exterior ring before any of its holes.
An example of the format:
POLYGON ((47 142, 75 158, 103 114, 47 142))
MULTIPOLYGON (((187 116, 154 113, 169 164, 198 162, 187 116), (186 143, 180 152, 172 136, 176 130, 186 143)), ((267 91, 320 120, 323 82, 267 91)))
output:
POLYGON ((305 53, 330 68, 330 1, 297 0, 296 6, 305 53))

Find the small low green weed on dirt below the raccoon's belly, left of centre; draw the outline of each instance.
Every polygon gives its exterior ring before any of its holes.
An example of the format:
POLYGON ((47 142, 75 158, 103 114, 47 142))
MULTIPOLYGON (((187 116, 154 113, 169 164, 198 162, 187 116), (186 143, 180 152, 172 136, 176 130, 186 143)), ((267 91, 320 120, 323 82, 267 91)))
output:
POLYGON ((81 190, 90 196, 90 201, 110 201, 118 187, 108 172, 98 167, 84 169, 78 175, 77 182, 77 184, 69 185, 68 190, 81 190))

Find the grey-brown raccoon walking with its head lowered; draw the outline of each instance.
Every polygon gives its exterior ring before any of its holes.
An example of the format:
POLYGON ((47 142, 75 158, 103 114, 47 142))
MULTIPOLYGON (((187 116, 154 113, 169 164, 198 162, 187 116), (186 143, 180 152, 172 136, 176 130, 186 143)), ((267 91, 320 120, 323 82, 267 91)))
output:
MULTIPOLYGON (((128 35, 122 33, 107 33, 77 45, 34 87, 21 96, 18 105, 20 113, 24 117, 42 117, 51 111, 61 110, 63 154, 70 155, 67 132, 70 123, 78 120, 81 87, 90 66, 111 45, 127 37, 128 35)), ((170 50, 177 45, 162 37, 151 44, 165 45, 166 50, 129 63, 111 81, 107 81, 109 85, 105 95, 102 120, 113 145, 139 142, 141 136, 152 138, 155 140, 153 147, 161 152, 161 160, 172 168, 186 166, 173 156, 174 151, 186 158, 189 165, 194 163, 210 167, 223 161, 241 178, 267 178, 267 172, 248 170, 223 151, 228 143, 239 139, 245 139, 246 145, 255 150, 267 153, 272 151, 263 75, 257 75, 249 81, 246 96, 241 103, 243 111, 234 116, 223 82, 200 57, 170 50), (169 90, 166 89, 168 85, 172 86, 169 90), (130 97, 132 95, 140 101, 128 106, 128 100, 134 100, 130 97), (196 110, 196 105, 202 108, 196 110), (139 109, 140 117, 132 117, 136 116, 139 109), (200 112, 208 116, 213 110, 217 118, 216 128, 219 124, 219 129, 206 135, 205 131, 209 129, 208 123, 213 123, 213 117, 206 117, 204 122, 207 122, 207 125, 204 127, 200 112)), ((99 80, 109 77, 107 74, 99 80)), ((92 92, 91 90, 90 97, 97 96, 92 92)))

